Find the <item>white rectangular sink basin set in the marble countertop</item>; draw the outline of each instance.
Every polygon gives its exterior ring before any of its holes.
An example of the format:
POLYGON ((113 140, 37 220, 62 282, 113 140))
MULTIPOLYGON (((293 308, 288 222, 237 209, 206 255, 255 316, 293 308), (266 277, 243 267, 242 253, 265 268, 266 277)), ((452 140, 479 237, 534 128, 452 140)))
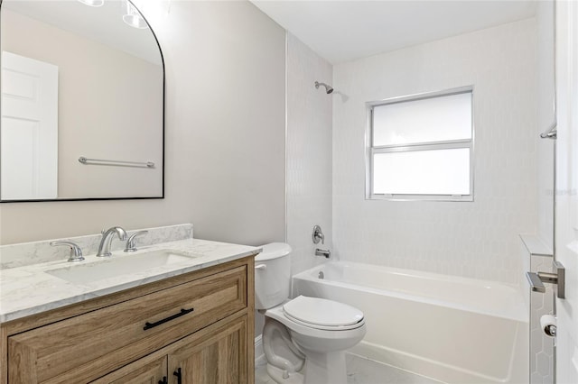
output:
POLYGON ((60 268, 58 270, 47 270, 46 273, 56 278, 70 281, 71 283, 83 284, 123 275, 134 275, 158 267, 189 262, 191 259, 200 256, 200 254, 186 251, 156 250, 117 257, 112 255, 103 261, 87 264, 83 264, 82 261, 80 261, 79 263, 70 265, 70 267, 60 268))

